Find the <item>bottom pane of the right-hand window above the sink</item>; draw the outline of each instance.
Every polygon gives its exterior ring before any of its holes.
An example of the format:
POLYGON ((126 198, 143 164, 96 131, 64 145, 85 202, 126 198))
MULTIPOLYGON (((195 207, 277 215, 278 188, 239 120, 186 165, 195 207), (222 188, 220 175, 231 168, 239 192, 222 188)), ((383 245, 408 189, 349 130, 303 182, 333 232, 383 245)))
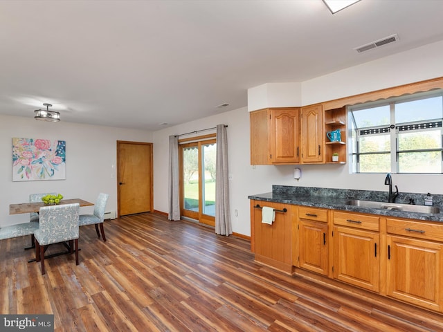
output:
POLYGON ((400 173, 441 173, 442 153, 404 152, 399 154, 400 173))

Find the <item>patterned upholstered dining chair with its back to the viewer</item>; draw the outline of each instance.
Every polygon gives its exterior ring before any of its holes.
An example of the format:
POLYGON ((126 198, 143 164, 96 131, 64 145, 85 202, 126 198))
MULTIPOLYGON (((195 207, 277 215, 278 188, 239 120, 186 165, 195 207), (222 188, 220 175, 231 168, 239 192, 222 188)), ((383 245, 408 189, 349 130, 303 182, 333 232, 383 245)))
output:
POLYGON ((43 206, 39 210, 39 229, 35 230, 35 260, 42 261, 44 252, 53 243, 69 242, 71 253, 75 251, 75 265, 78 265, 78 216, 80 204, 43 206))

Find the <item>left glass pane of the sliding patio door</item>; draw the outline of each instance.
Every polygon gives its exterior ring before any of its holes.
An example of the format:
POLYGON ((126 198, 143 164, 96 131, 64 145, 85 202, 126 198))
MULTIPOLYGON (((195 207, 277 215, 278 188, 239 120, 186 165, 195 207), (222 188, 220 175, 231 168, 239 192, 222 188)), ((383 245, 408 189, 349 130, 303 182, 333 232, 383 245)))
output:
POLYGON ((199 211, 199 150, 183 149, 183 207, 199 211))

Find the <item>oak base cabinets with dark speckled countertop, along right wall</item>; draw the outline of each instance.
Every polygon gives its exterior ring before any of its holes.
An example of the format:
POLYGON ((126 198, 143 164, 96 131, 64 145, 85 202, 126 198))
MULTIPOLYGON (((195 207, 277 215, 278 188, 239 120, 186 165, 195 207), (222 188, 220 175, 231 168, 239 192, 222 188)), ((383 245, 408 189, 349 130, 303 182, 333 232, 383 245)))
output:
POLYGON ((392 204, 388 192, 274 185, 248 196, 251 250, 286 273, 310 271, 442 313, 443 195, 433 195, 433 207, 425 198, 400 193, 392 204), (264 206, 275 210, 271 225, 262 223, 264 206))

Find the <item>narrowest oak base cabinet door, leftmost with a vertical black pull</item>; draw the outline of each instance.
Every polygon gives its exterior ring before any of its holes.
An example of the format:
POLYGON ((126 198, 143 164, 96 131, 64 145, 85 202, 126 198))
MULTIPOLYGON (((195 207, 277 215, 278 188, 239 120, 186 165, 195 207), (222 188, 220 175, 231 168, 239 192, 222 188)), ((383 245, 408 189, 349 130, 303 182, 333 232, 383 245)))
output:
POLYGON ((327 223, 300 219, 298 227, 300 268, 327 275, 327 223))

